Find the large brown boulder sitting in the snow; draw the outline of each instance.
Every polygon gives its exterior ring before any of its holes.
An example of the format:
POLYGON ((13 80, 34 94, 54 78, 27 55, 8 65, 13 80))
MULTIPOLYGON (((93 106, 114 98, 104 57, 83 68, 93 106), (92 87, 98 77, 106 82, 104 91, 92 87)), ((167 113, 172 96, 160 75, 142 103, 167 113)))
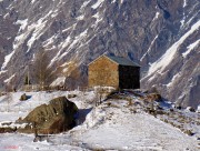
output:
POLYGON ((74 127, 78 108, 66 97, 59 97, 32 110, 21 122, 29 123, 21 132, 59 133, 74 127))

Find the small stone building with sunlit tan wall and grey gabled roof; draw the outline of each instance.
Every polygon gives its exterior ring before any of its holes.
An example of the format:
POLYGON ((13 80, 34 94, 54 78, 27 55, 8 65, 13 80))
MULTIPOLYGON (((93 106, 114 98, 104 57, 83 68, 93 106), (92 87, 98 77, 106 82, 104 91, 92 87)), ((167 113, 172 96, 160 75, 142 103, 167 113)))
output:
POLYGON ((89 87, 113 87, 116 89, 139 89, 140 66, 122 57, 101 56, 90 62, 89 87))

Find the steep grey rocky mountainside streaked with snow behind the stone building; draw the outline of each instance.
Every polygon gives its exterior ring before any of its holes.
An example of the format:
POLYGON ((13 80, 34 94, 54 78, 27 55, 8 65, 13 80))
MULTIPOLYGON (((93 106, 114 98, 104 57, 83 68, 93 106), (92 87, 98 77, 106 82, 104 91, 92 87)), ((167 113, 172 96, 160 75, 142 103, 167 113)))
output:
POLYGON ((141 64, 142 88, 200 103, 199 0, 0 0, 0 87, 20 85, 41 48, 50 67, 103 53, 141 64))

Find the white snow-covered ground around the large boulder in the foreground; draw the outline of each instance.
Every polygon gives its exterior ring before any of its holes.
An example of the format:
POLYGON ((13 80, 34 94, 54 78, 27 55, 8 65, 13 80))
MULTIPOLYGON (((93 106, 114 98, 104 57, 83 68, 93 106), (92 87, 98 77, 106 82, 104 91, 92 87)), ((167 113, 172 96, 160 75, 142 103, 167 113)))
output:
MULTIPOLYGON (((1 133, 0 151, 68 151, 68 150, 130 150, 130 151, 197 151, 198 140, 179 129, 143 112, 139 105, 123 99, 107 100, 94 107, 96 94, 80 91, 26 92, 30 97, 20 101, 24 92, 0 97, 0 123, 14 122, 24 118, 32 109, 48 103, 52 98, 72 93, 73 101, 80 109, 79 125, 68 132, 49 135, 49 141, 33 142, 33 134, 1 133)), ((140 101, 133 97, 132 101, 140 101)), ((187 112, 186 112, 187 113, 187 112)), ((193 113, 194 114, 194 113, 193 113)), ((199 115, 196 113, 196 117, 199 115)), ((197 125, 200 130, 200 125, 197 125)))

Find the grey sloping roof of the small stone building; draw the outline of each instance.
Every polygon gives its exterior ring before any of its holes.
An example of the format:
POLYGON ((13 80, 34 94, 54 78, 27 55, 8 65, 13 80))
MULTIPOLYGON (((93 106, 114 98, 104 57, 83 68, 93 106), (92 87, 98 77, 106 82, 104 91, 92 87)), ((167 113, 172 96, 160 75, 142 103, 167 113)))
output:
POLYGON ((123 58, 123 57, 114 57, 114 56, 109 56, 109 54, 106 54, 106 57, 120 66, 140 67, 138 63, 132 62, 131 60, 123 58))

